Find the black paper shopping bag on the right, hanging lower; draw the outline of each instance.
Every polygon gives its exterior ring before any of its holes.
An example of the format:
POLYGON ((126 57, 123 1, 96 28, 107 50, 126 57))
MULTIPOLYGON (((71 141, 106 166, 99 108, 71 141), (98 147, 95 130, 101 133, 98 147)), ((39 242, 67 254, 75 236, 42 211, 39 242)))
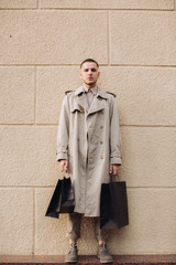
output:
POLYGON ((125 181, 101 184, 100 229, 121 229, 129 224, 125 181))

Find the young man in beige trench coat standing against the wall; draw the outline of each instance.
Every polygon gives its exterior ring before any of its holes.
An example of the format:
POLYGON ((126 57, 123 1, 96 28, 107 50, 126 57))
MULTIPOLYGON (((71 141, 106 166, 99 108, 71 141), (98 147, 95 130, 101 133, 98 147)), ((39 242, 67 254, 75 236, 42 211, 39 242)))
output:
POLYGON ((92 59, 80 64, 82 86, 66 93, 61 110, 57 135, 57 160, 61 170, 68 172, 75 192, 75 210, 68 214, 67 237, 69 251, 66 262, 77 262, 77 240, 80 219, 95 220, 98 257, 101 263, 112 262, 106 248, 107 231, 100 230, 101 183, 118 174, 121 165, 121 140, 116 95, 97 86, 99 65, 92 59))

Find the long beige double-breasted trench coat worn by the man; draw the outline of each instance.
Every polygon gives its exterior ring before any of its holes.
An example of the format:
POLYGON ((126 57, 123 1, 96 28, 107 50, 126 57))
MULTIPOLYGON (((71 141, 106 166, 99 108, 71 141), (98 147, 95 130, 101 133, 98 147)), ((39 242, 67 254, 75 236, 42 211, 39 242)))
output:
POLYGON ((99 216, 101 183, 109 182, 109 165, 121 165, 118 106, 113 95, 98 87, 90 108, 82 87, 65 96, 57 135, 57 160, 61 159, 69 161, 75 212, 99 216))

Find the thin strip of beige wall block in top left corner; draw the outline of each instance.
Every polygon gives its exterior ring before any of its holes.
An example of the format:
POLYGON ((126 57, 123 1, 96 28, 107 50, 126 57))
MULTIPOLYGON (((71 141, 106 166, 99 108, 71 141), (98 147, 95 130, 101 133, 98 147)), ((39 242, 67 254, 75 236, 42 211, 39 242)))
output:
POLYGON ((37 8, 37 0, 1 0, 0 9, 32 9, 37 8))

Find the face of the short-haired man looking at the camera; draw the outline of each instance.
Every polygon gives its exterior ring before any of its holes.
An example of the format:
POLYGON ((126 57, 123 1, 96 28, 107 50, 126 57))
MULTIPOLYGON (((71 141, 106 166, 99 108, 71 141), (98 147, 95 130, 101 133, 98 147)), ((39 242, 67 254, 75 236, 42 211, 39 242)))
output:
POLYGON ((79 73, 80 78, 88 88, 96 85, 99 75, 100 72, 98 71, 97 64, 94 62, 84 63, 79 73))

